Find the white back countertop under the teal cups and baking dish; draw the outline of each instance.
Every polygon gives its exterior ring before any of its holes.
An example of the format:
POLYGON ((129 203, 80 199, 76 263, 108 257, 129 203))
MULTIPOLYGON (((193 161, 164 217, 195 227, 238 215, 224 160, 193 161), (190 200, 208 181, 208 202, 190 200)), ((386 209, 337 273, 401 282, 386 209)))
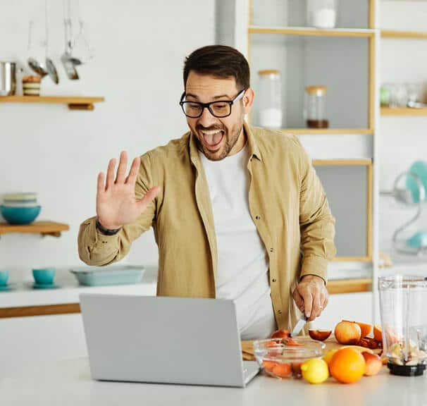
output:
POLYGON ((156 295, 157 269, 147 267, 141 283, 133 285, 82 286, 72 273, 58 270, 56 289, 34 289, 31 281, 12 283, 16 289, 0 291, 0 308, 78 303, 80 293, 113 293, 125 295, 156 295))

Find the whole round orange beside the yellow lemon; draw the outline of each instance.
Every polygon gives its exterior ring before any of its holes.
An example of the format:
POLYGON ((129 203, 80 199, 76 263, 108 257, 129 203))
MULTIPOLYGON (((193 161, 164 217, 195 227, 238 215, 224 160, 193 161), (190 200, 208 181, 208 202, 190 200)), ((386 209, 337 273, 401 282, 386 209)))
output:
POLYGON ((335 352, 329 362, 330 374, 342 383, 359 380, 366 368, 364 356, 353 348, 342 348, 335 352))

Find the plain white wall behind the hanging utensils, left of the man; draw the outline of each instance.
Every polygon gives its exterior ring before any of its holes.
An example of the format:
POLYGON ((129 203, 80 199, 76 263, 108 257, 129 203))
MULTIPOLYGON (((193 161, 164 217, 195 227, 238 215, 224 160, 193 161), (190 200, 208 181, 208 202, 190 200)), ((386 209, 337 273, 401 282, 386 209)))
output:
MULTIPOLYGON (((104 96, 106 102, 92 112, 0 104, 0 195, 38 192, 39 220, 70 225, 58 239, 2 236, 0 269, 13 270, 12 279, 30 278, 35 266, 80 263, 78 226, 94 215, 97 173, 122 149, 140 155, 187 130, 178 106, 183 61, 197 47, 214 43, 214 0, 80 0, 95 58, 79 69, 81 80, 72 82, 59 62, 62 1, 50 1, 51 56, 60 84, 44 78, 42 93, 104 96)), ((31 18, 37 42, 43 39, 44 1, 3 0, 1 8, 0 60, 25 62, 31 18)), ((44 56, 42 48, 36 56, 44 56)), ((151 231, 135 243, 128 260, 156 264, 151 231)))

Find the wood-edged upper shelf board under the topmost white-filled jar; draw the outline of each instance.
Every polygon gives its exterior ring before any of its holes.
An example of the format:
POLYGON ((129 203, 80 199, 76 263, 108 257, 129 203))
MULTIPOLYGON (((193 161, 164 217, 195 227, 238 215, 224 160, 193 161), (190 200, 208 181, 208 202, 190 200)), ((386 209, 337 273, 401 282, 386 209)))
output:
POLYGON ((259 27, 249 26, 249 34, 281 34, 281 35, 304 35, 311 37, 373 37, 373 30, 334 28, 331 30, 320 30, 312 27, 259 27))

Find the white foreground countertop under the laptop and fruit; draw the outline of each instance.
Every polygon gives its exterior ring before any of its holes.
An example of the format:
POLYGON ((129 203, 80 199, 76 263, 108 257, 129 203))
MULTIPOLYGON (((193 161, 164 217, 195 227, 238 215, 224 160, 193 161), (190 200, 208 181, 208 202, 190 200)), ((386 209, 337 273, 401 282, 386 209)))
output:
POLYGON ((426 405, 427 374, 392 376, 388 369, 349 385, 256 376, 247 388, 92 381, 88 361, 71 359, 0 377, 2 405, 426 405))

